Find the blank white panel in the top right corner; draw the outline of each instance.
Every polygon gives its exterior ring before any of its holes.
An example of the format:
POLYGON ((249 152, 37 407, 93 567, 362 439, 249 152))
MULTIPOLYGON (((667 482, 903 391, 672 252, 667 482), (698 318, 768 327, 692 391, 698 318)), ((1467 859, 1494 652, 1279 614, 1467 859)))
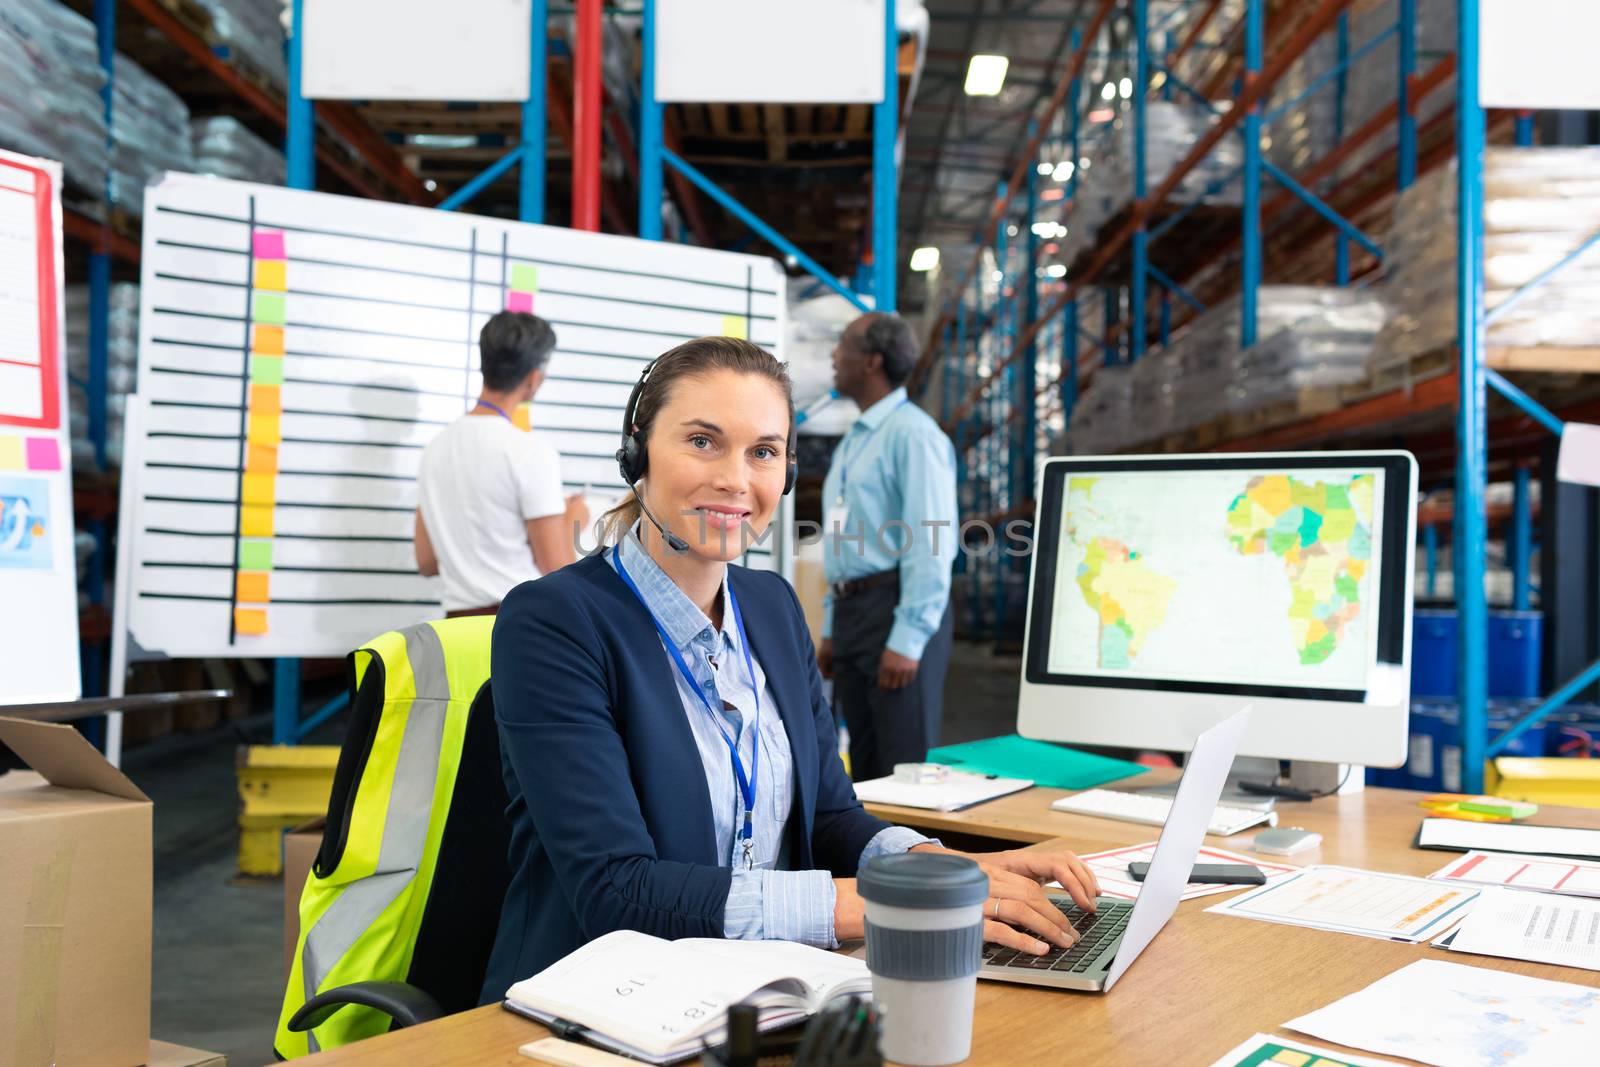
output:
POLYGON ((1600 109, 1595 0, 1482 0, 1478 101, 1485 107, 1600 109))

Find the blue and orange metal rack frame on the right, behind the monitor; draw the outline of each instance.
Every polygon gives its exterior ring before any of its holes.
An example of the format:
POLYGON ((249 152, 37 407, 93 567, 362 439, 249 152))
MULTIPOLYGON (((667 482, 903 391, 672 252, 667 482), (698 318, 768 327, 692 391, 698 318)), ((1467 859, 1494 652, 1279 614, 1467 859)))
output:
MULTIPOLYGON (((1034 485, 1034 458, 1038 453, 1035 427, 1040 424, 1040 402, 1046 403, 1046 416, 1051 400, 1059 397, 1064 424, 1070 424, 1072 410, 1078 398, 1080 376, 1093 371, 1101 363, 1122 363, 1141 358, 1149 346, 1149 326, 1152 317, 1158 322, 1158 334, 1165 341, 1173 328, 1173 299, 1192 310, 1203 306, 1192 293, 1184 290, 1181 278, 1170 277, 1157 270, 1149 262, 1149 245, 1174 226, 1186 211, 1163 219, 1152 227, 1155 213, 1165 205, 1179 182, 1194 171, 1208 154, 1227 136, 1237 133, 1243 138, 1242 168, 1242 208, 1238 238, 1227 242, 1210 254, 1200 256, 1189 266, 1182 277, 1194 277, 1203 269, 1214 266, 1235 250, 1240 259, 1237 275, 1237 291, 1242 310, 1242 347, 1250 347, 1256 341, 1256 296, 1266 267, 1264 226, 1291 210, 1309 211, 1320 221, 1320 232, 1328 230, 1334 237, 1334 282, 1350 283, 1350 245, 1362 246, 1373 259, 1381 259, 1381 250, 1355 227, 1349 219, 1363 210, 1371 210, 1384 195, 1395 195, 1410 186, 1418 174, 1438 166, 1459 155, 1459 254, 1458 254, 1458 286, 1459 286, 1459 365, 1442 378, 1419 382, 1413 389, 1381 394, 1366 400, 1341 406, 1326 416, 1301 421, 1291 426, 1274 427, 1243 438, 1234 438, 1216 445, 1229 451, 1256 451, 1270 448, 1288 448, 1338 438, 1379 426, 1395 424, 1408 416, 1434 413, 1451 405, 1458 408, 1456 429, 1453 435, 1454 466, 1454 507, 1451 522, 1454 525, 1454 589, 1459 609, 1461 656, 1459 656, 1459 704, 1461 704, 1461 741, 1462 741, 1462 789, 1477 792, 1483 787, 1483 763, 1512 742, 1523 731, 1541 721, 1552 710, 1570 701, 1574 694, 1600 680, 1600 662, 1581 670, 1570 681, 1552 693, 1539 707, 1523 715, 1510 729, 1493 741, 1488 739, 1488 609, 1483 592, 1485 579, 1485 542, 1486 542, 1486 470, 1490 427, 1486 426, 1486 389, 1493 387, 1518 410, 1518 416, 1502 419, 1496 426, 1501 432, 1518 435, 1531 426, 1560 434, 1563 418, 1584 418, 1597 405, 1584 405, 1560 414, 1546 410, 1523 390, 1507 381, 1498 371, 1485 365, 1483 330, 1504 309, 1520 301, 1534 286, 1549 280, 1550 275, 1566 267, 1578 256, 1600 243, 1600 234, 1594 235, 1576 248, 1560 264, 1536 278, 1523 291, 1494 310, 1483 309, 1483 149, 1486 144, 1486 115, 1477 102, 1477 66, 1478 66, 1478 10, 1477 0, 1459 0, 1458 3, 1458 48, 1456 54, 1442 56, 1432 66, 1418 72, 1416 50, 1416 2, 1400 0, 1398 21, 1394 27, 1379 35, 1398 34, 1398 99, 1387 109, 1378 112, 1360 128, 1344 133, 1342 94, 1346 74, 1350 64, 1378 40, 1363 42, 1352 51, 1349 40, 1347 8, 1350 0, 1320 0, 1294 27, 1282 37, 1282 43, 1270 56, 1266 54, 1266 22, 1267 0, 1246 0, 1242 19, 1243 48, 1242 69, 1234 82, 1230 107, 1218 112, 1211 101, 1219 96, 1232 75, 1227 64, 1203 88, 1184 85, 1176 72, 1176 59, 1197 45, 1203 30, 1214 18, 1221 0, 1206 0, 1194 11, 1184 38, 1178 46, 1171 45, 1171 32, 1160 27, 1166 43, 1166 54, 1158 61, 1150 53, 1149 0, 1101 0, 1094 5, 1093 14, 1086 21, 1083 32, 1074 38, 1072 58, 1061 70, 1056 94, 1037 118, 1035 136, 1030 138, 1022 157, 1016 162, 1011 182, 1002 184, 1000 192, 989 213, 982 232, 974 235, 978 250, 971 264, 957 277, 955 285, 946 293, 946 302, 928 334, 926 354, 914 378, 914 386, 926 389, 930 376, 938 370, 938 394, 928 403, 941 416, 946 432, 957 443, 962 462, 962 514, 963 520, 984 518, 990 525, 1032 514, 1034 501, 1030 486, 1034 485), (1131 26, 1131 48, 1128 56, 1133 66, 1134 91, 1131 98, 1130 122, 1133 123, 1133 202, 1131 208, 1120 216, 1120 224, 1112 222, 1101 230, 1098 243, 1083 269, 1066 280, 1050 299, 1038 309, 1037 267, 1038 245, 1026 242, 1026 253, 1018 266, 1011 266, 1006 256, 1006 235, 1014 232, 1013 219, 1018 208, 1022 226, 1032 226, 1037 216, 1035 186, 1027 182, 1022 187, 1022 174, 1034 174, 1040 157, 1042 138, 1038 130, 1053 130, 1058 125, 1058 112, 1064 101, 1070 101, 1061 115, 1058 138, 1062 144, 1070 144, 1070 155, 1080 158, 1082 123, 1082 72, 1085 59, 1093 48, 1102 48, 1102 27, 1114 10, 1122 10, 1131 26), (1310 88, 1290 101, 1275 107, 1270 114, 1262 114, 1262 106, 1288 72, 1290 66, 1318 38, 1336 34, 1338 59, 1334 69, 1315 80, 1310 88), (1152 85, 1155 74, 1160 74, 1158 85, 1152 85), (1438 88, 1451 75, 1456 77, 1456 107, 1451 112, 1437 115, 1429 123, 1418 122, 1418 102, 1432 90, 1438 88), (1194 149, 1158 182, 1147 189, 1146 173, 1146 99, 1150 91, 1168 96, 1173 90, 1182 91, 1192 99, 1198 99, 1213 112, 1216 118, 1208 133, 1194 149), (1304 96, 1315 91, 1334 90, 1339 94, 1336 110, 1336 130, 1344 134, 1336 147, 1322 160, 1306 168, 1296 176, 1290 176, 1262 158, 1261 136, 1262 126, 1270 118, 1283 114, 1298 104, 1304 96), (1451 146, 1438 134, 1453 118, 1459 136, 1459 154, 1450 152, 1451 146), (1373 138, 1395 130, 1395 147, 1381 157, 1387 166, 1394 158, 1395 182, 1389 190, 1379 190, 1374 197, 1368 194, 1354 203, 1338 203, 1338 192, 1320 197, 1318 187, 1334 170, 1350 158, 1373 138), (1422 150, 1424 142, 1432 147, 1422 150), (1262 176, 1274 179, 1282 190, 1272 197, 1262 195, 1262 176), (1022 189, 1022 197, 1014 197, 1022 189), (1112 261, 1128 251, 1131 256, 1131 274, 1125 285, 1104 283, 1102 275, 1112 261), (995 262, 997 288, 986 294, 984 264, 989 258, 995 262), (1155 282, 1158 296, 1152 299, 1149 282, 1155 282), (1077 322, 1080 294, 1090 294, 1094 288, 1106 290, 1106 330, 1101 336, 1086 336, 1077 322), (986 312, 986 301, 994 310, 986 312), (1152 302, 1157 304, 1152 309, 1152 302), (1018 304, 1024 314, 1021 322, 1016 317, 1018 304), (1037 310, 1037 314, 1035 314, 1037 310), (1154 312, 1154 314, 1152 314, 1154 312), (1083 347, 1082 341, 1088 341, 1083 347), (1048 354, 1048 355, 1046 355, 1048 354), (1042 362, 1056 363, 1053 381, 1038 382, 1037 373, 1042 362), (1019 434, 1016 424, 1022 424, 1019 434), (976 477, 974 477, 976 475, 976 477), (1021 475, 1021 477, 1019 477, 1021 475)), ((1278 8, 1280 14, 1288 14, 1294 5, 1278 8)), ((1304 8, 1301 8, 1304 10, 1304 8)), ((1096 53, 1106 54, 1106 53, 1096 53)), ((1507 115, 1507 118, 1510 118, 1507 115)), ((1518 144, 1533 142, 1533 117, 1526 112, 1515 115, 1515 139, 1518 144)), ((1059 158, 1059 154, 1058 154, 1059 158)), ((1077 190, 1077 173, 1066 182, 1067 210, 1074 203, 1077 190)), ((1378 264, 1373 262, 1368 270, 1378 264)), ((1514 571, 1515 603, 1526 606, 1526 595, 1531 585, 1528 574, 1531 557, 1531 518, 1528 474, 1518 467, 1514 475, 1514 501, 1510 509, 1510 565, 1514 571)), ((1437 523, 1424 525, 1424 537, 1430 557, 1437 552, 1437 523)), ((963 525, 965 528, 965 525, 963 525)), ((1006 614, 1005 577, 1006 560, 1003 555, 989 557, 986 565, 987 577, 995 587, 995 606, 990 614, 994 633, 998 640, 1006 614)), ((1435 565, 1437 566, 1437 565, 1435 565)), ((976 635, 982 629, 982 611, 979 603, 978 574, 970 574, 971 600, 971 632, 976 635)))

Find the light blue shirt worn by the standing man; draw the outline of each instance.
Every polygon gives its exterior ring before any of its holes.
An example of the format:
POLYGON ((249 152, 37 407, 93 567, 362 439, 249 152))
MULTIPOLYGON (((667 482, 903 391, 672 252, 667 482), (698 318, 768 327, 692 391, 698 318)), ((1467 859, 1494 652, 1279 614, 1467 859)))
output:
POLYGON ((848 515, 843 530, 822 531, 829 582, 822 637, 834 635, 834 582, 899 568, 888 648, 922 659, 950 603, 960 518, 955 446, 926 411, 906 403, 904 386, 862 411, 834 450, 822 482, 824 517, 840 498, 848 515))

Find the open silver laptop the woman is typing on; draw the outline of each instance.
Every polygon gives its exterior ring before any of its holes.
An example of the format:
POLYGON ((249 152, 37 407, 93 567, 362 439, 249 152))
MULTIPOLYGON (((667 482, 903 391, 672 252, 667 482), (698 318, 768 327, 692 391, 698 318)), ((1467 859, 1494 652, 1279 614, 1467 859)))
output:
POLYGON ((978 976, 1090 992, 1115 985, 1178 910, 1248 721, 1250 707, 1243 707, 1195 741, 1136 901, 1102 896, 1096 901, 1098 910, 1085 912, 1066 893, 1053 893, 1051 901, 1078 931, 1077 944, 1034 955, 989 942, 978 976))

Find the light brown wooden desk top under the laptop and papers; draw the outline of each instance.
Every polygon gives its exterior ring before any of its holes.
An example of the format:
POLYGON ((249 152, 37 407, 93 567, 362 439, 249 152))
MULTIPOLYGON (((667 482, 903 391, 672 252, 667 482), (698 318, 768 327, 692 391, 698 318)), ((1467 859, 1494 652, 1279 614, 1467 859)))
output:
MULTIPOLYGON (((1062 837, 1050 841, 1048 848, 1090 853, 1155 838, 1154 827, 1050 811, 1048 800, 1054 793, 1056 790, 1032 790, 1018 798, 994 801, 1010 801, 1003 811, 1016 814, 1006 830, 1013 835, 1011 840, 1019 840, 1019 833, 1035 833, 1045 825, 1042 819, 1048 819, 1051 827, 1061 825, 1062 837), (1029 797, 1043 801, 1043 814, 1040 805, 1029 801, 1029 797)), ((1283 803, 1280 825, 1302 825, 1323 835, 1317 853, 1301 854, 1293 862, 1344 864, 1410 875, 1426 875, 1443 867, 1450 853, 1411 848, 1422 814, 1416 797, 1418 793, 1410 792, 1370 789, 1354 797, 1331 797, 1309 805, 1283 803)), ((955 816, 962 816, 960 829, 966 832, 976 832, 970 829, 974 822, 998 822, 994 811, 973 809, 955 816)), ((949 821, 955 816, 934 817, 949 821)), ((1600 829, 1600 811, 1544 808, 1534 822, 1600 829)), ((918 825, 931 824, 923 821, 918 825)), ((1240 841, 1248 837, 1238 835, 1232 846, 1245 851, 1240 841)), ((1229 838, 1206 840, 1219 846, 1229 845, 1229 838)), ((1181 904, 1166 929, 1109 995, 979 982, 973 1056, 966 1062, 971 1067, 1210 1064, 1258 1030, 1291 1035, 1280 1024, 1422 958, 1600 985, 1600 974, 1594 971, 1462 953, 1446 957, 1426 945, 1206 913, 1205 909, 1219 899, 1224 897, 1181 904)), ((544 1027, 491 1006, 323 1053, 306 1062, 312 1067, 390 1062, 526 1067, 533 1061, 522 1059, 517 1048, 544 1033, 544 1027)))

